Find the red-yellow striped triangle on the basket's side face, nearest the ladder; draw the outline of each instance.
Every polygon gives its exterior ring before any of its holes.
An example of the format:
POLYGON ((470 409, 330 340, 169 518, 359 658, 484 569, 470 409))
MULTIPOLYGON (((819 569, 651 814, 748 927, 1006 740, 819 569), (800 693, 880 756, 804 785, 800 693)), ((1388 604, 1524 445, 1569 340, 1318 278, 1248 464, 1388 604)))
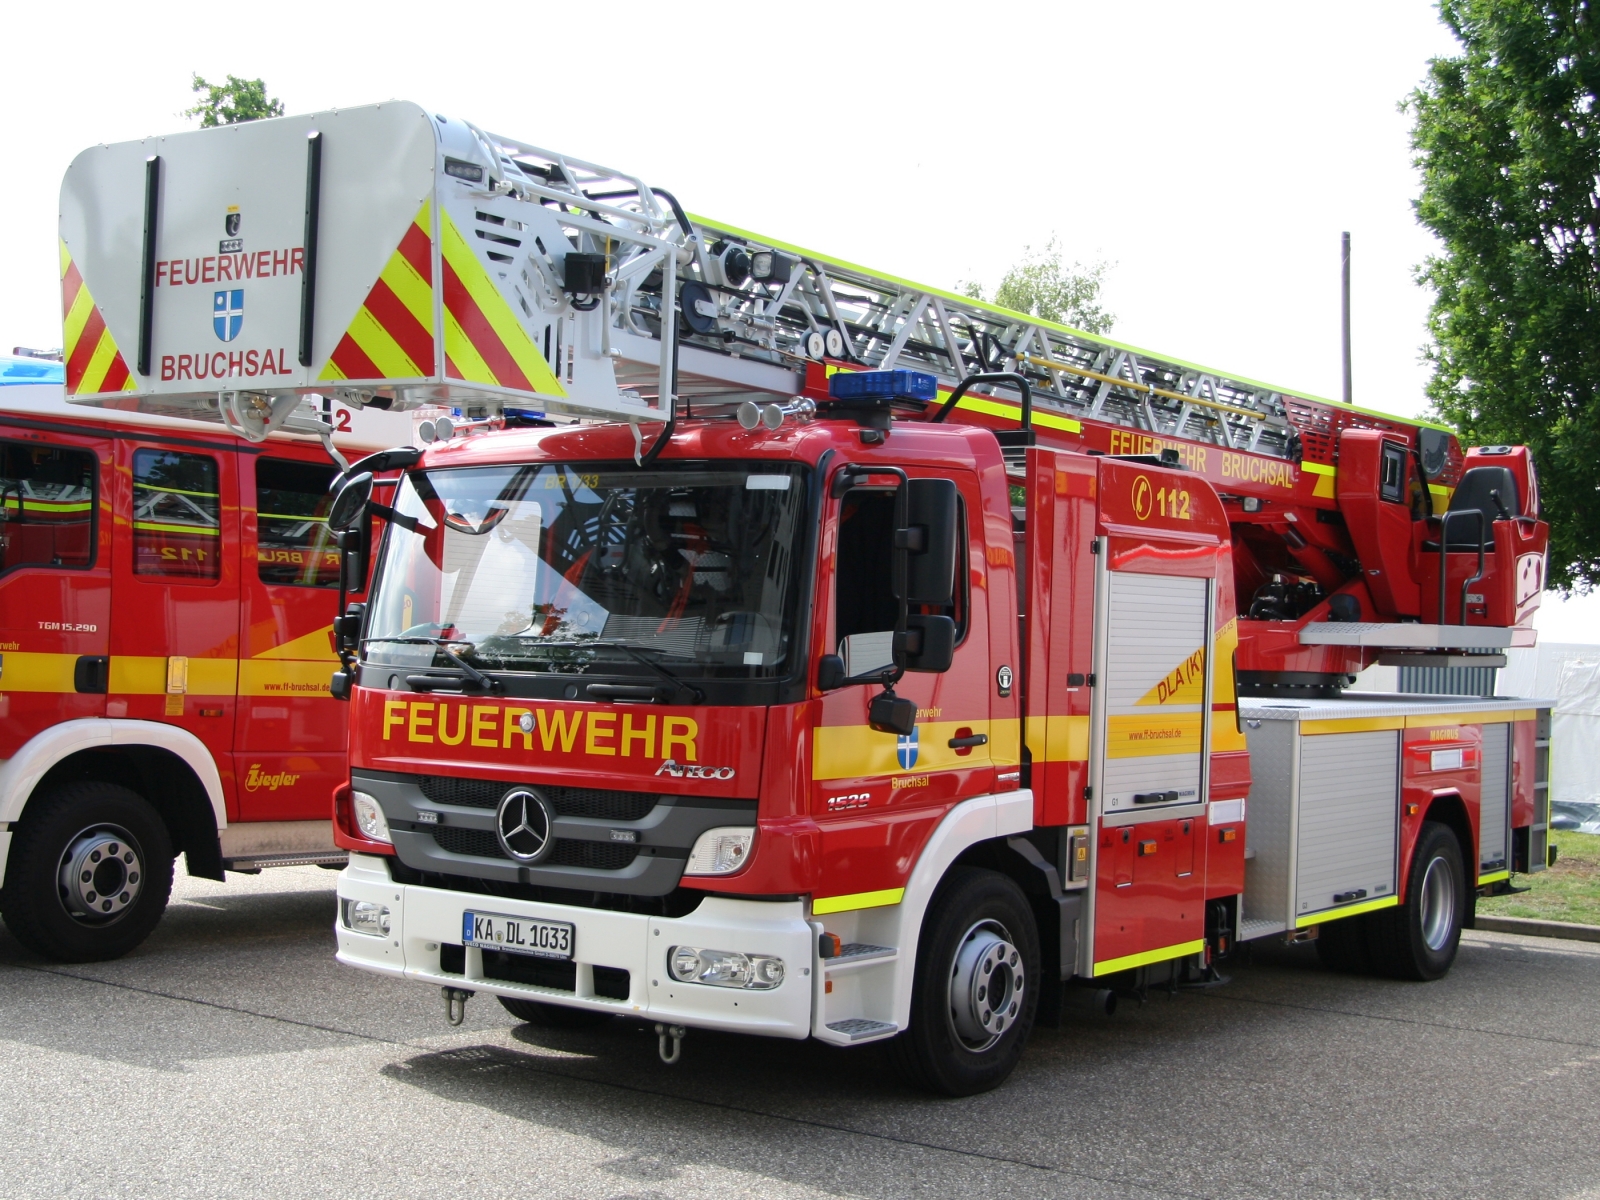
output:
POLYGON ((470 384, 566 395, 472 246, 440 210, 445 266, 445 374, 470 384))

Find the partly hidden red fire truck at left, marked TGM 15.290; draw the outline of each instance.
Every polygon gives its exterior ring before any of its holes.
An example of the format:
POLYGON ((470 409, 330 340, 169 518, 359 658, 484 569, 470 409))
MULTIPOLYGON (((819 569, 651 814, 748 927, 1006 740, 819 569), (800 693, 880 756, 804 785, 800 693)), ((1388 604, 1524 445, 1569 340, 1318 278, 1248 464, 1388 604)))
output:
MULTIPOLYGON (((64 386, 0 387, 0 914, 83 962, 155 928, 174 854, 218 880, 344 862, 339 467, 304 435, 66 403, 126 368, 70 267, 64 301, 64 386)), ((402 414, 326 416, 341 453, 410 437, 402 414)))

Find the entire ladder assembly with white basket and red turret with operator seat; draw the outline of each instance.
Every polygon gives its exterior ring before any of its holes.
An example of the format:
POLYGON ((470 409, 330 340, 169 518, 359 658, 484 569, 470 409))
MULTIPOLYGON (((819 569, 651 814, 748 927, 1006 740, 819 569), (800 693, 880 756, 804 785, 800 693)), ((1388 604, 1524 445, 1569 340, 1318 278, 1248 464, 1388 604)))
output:
POLYGON ((1440 426, 691 218, 626 171, 414 104, 96 147, 61 213, 75 402, 251 438, 322 432, 328 397, 443 405, 626 421, 642 448, 645 422, 826 403, 838 371, 934 376, 907 418, 970 386, 952 416, 1016 429, 1026 381, 1040 445, 1170 459, 1222 494, 1240 618, 1298 646, 1262 658, 1254 640, 1242 670, 1341 678, 1382 646, 1498 650, 1507 637, 1440 630, 1525 626, 1542 587, 1522 448, 1467 456, 1440 426), (1387 635, 1406 622, 1427 630, 1387 635))

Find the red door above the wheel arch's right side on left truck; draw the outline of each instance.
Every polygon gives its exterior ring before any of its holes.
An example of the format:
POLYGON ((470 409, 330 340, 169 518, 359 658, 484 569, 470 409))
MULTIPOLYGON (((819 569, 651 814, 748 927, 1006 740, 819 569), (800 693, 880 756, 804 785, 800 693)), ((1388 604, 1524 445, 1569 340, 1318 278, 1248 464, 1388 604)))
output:
POLYGON ((222 443, 117 442, 109 717, 189 730, 222 774, 229 818, 238 675, 237 454, 222 443))

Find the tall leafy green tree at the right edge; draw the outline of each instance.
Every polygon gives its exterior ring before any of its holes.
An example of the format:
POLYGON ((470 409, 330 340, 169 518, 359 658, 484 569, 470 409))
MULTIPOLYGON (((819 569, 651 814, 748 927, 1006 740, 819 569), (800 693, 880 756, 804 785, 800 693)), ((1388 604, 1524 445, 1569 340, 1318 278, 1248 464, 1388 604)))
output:
POLYGON ((1525 443, 1550 582, 1600 582, 1600 26, 1590 0, 1440 0, 1461 42, 1405 102, 1442 253, 1429 397, 1469 443, 1525 443))

